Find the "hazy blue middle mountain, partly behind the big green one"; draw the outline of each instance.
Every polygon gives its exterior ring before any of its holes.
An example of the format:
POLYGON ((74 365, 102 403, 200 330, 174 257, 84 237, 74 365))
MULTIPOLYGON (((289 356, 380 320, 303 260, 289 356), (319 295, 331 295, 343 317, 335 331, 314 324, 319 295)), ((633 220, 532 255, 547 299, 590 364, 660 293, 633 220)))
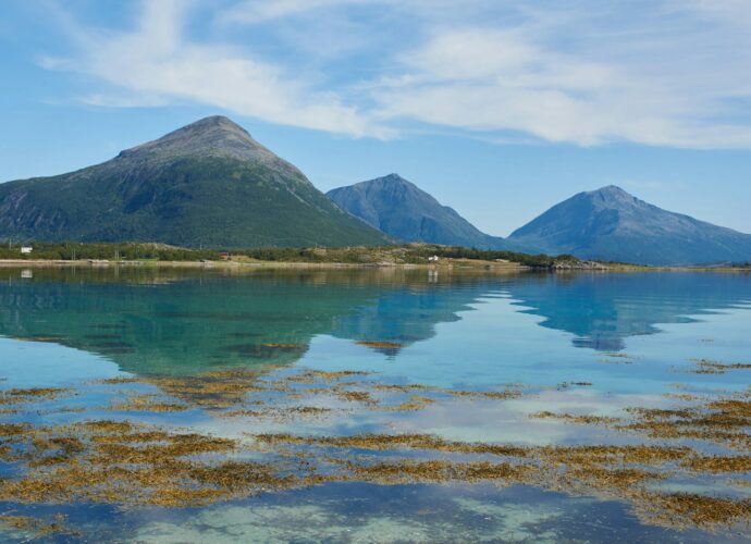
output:
POLYGON ((343 210, 404 242, 478 249, 510 249, 514 244, 480 232, 455 210, 398 174, 327 193, 343 210))

